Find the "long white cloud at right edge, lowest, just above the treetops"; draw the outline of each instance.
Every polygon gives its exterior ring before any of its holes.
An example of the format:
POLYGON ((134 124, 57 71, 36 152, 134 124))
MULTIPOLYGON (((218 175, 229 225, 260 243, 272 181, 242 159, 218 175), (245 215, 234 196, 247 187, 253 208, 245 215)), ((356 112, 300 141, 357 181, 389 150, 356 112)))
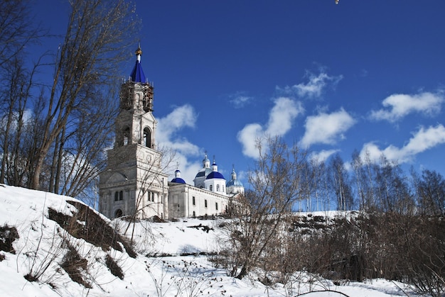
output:
POLYGON ((410 162, 415 155, 429 150, 436 145, 445 143, 445 128, 439 124, 436 127, 421 127, 413 137, 409 139, 403 147, 395 147, 389 145, 384 150, 380 150, 374 142, 368 142, 363 145, 360 157, 366 158, 368 154, 371 162, 380 162, 380 157, 384 155, 387 159, 397 161, 399 163, 410 162))

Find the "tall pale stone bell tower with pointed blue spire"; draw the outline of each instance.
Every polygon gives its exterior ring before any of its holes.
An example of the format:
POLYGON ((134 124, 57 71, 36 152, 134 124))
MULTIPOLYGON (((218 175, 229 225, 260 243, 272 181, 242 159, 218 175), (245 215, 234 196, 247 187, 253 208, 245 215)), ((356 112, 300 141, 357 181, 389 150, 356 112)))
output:
POLYGON ((168 175, 161 172, 162 154, 155 145, 154 87, 142 70, 141 55, 139 46, 119 94, 114 147, 107 151, 107 167, 100 173, 99 211, 108 218, 168 218, 168 175))

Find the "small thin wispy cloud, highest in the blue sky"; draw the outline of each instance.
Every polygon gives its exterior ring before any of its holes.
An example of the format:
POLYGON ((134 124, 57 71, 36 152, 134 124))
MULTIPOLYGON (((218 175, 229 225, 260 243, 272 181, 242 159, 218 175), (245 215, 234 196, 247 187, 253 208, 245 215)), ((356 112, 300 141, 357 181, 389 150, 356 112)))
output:
POLYGON ((343 79, 342 75, 333 77, 329 76, 325 72, 320 72, 318 75, 307 72, 306 76, 309 77, 309 82, 306 84, 294 84, 293 86, 285 86, 284 88, 277 86, 277 91, 284 92, 284 94, 296 94, 300 97, 318 98, 323 94, 323 91, 326 86, 328 86, 328 83, 336 86, 336 84, 343 79))

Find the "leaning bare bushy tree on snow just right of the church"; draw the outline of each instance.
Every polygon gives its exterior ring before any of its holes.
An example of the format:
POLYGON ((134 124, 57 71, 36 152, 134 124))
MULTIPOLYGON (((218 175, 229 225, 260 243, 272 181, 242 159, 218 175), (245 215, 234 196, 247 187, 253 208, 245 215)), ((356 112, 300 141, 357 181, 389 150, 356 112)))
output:
POLYGON ((281 138, 258 141, 257 148, 259 159, 249 174, 251 189, 231 210, 233 218, 225 224, 227 237, 222 242, 221 263, 238 279, 272 259, 285 214, 306 197, 300 172, 306 166, 306 152, 296 145, 288 147, 281 138))

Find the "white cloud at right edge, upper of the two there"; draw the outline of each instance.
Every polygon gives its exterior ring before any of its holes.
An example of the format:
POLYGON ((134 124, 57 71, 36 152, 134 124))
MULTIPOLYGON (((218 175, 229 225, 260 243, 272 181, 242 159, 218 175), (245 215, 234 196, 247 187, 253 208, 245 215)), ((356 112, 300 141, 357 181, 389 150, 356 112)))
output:
POLYGON ((434 116, 441 111, 442 103, 444 103, 443 94, 429 92, 414 95, 393 94, 382 101, 384 108, 371 111, 370 118, 394 123, 409 113, 423 113, 426 116, 434 116))

